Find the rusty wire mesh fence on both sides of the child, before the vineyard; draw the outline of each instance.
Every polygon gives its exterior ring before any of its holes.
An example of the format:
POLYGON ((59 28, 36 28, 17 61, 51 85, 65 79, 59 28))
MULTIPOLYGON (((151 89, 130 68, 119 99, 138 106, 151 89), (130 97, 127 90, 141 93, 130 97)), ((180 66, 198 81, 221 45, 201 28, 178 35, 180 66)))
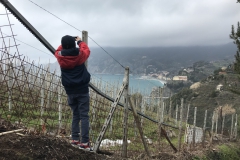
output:
MULTIPOLYGON (((7 51, 1 51, 0 85, 2 118, 18 127, 25 128, 28 134, 69 137, 72 112, 67 104, 67 95, 62 87, 61 79, 56 72, 50 72, 47 66, 30 63, 20 55, 11 55, 7 51)), ((114 91, 106 88, 105 92, 106 94, 117 93, 118 89, 114 91)), ((112 102, 92 89, 90 97, 90 139, 94 143, 107 119, 112 102)), ((155 119, 157 117, 155 110, 149 106, 139 107, 140 102, 140 99, 135 100, 135 105, 138 106, 137 111, 153 116, 155 119)), ((100 149, 119 154, 122 152, 123 118, 124 108, 118 105, 100 149)), ((140 121, 150 151, 156 152, 158 150, 158 123, 144 117, 141 117, 140 121)), ((131 111, 128 114, 127 137, 129 151, 134 153, 144 150, 131 111)))

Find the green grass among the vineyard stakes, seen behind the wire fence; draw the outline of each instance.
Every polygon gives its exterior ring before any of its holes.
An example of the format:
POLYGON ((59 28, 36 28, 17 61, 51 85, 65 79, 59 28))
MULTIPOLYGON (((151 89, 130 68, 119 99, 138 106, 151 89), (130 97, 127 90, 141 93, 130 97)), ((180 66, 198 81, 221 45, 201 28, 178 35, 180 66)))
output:
MULTIPOLYGON (((28 128, 35 128, 38 130, 41 130, 41 120, 45 120, 46 122, 46 128, 48 131, 56 131, 58 129, 59 125, 59 115, 58 115, 58 100, 57 96, 47 96, 47 93, 44 97, 44 106, 47 106, 47 101, 49 99, 50 106, 49 108, 45 108, 44 113, 41 115, 41 106, 40 106, 40 98, 39 93, 36 90, 29 90, 24 92, 24 94, 20 94, 20 91, 14 90, 12 95, 12 111, 8 111, 8 94, 5 94, 4 92, 0 93, 3 100, 1 101, 0 106, 0 114, 2 118, 8 119, 11 122, 19 121, 28 128), (32 94, 31 94, 32 93, 32 94), (30 95, 31 94, 31 95, 30 95), (9 115, 11 116, 9 118, 9 115)), ((66 97, 63 97, 62 102, 66 103, 66 97)), ((101 102, 98 102, 96 106, 93 106, 95 103, 94 99, 91 98, 90 100, 90 120, 91 120, 91 139, 92 141, 95 141, 95 139, 98 137, 102 126, 109 114, 110 111, 110 105, 111 103, 107 101, 106 99, 102 99, 101 102), (93 107, 95 108, 95 121, 93 121, 93 107)), ((68 124, 71 124, 71 118, 72 113, 70 110, 70 107, 66 104, 63 104, 62 115, 63 115, 63 122, 64 126, 70 126, 68 124)), ((152 110, 152 109, 151 109, 152 110)), ((123 138, 123 108, 117 107, 114 115, 113 115, 113 123, 112 125, 112 132, 110 131, 110 127, 108 127, 103 139, 122 139, 123 138)), ((149 115, 153 119, 157 119, 157 114, 154 111, 146 110, 146 115, 149 115)), ((158 143, 158 124, 155 122, 152 122, 150 120, 147 120, 144 118, 143 121, 143 132, 144 135, 147 136, 149 139, 153 141, 154 144, 158 143)), ((66 128, 67 132, 70 132, 70 128, 66 128)), ((68 134, 68 133, 67 133, 68 134)), ((132 112, 129 111, 129 117, 128 117, 128 135, 129 140, 138 139, 138 141, 134 141, 133 143, 130 143, 128 145, 129 150, 144 150, 142 141, 140 139, 139 131, 135 125, 135 121, 133 118, 132 112)), ((183 138, 182 138, 183 139, 183 138)), ((177 138, 172 139, 174 145, 176 146, 177 138)), ((168 142, 165 140, 161 141, 164 144, 168 145, 168 142)), ((119 148, 119 147, 114 147, 119 148)), ((114 149, 113 148, 113 149, 114 149)), ((150 150, 155 150, 154 146, 149 146, 150 150)))

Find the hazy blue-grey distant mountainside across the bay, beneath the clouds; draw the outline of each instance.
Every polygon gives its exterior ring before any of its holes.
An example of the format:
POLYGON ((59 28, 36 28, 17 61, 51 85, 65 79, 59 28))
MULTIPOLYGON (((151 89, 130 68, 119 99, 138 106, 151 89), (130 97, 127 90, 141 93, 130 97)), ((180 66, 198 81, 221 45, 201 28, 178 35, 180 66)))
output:
POLYGON ((150 48, 91 48, 88 68, 91 73, 123 73, 129 66, 133 74, 178 72, 197 61, 233 60, 236 46, 232 43, 219 46, 150 47, 150 48), (109 56, 111 55, 111 56, 109 56))

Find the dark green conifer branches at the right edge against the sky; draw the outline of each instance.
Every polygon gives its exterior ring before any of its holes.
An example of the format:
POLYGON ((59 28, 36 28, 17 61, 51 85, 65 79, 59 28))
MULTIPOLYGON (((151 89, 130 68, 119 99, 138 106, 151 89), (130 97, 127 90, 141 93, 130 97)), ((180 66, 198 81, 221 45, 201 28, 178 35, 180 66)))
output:
POLYGON ((232 32, 230 34, 230 38, 233 39, 233 43, 237 45, 237 49, 238 49, 235 55, 234 71, 240 74, 240 24, 239 22, 237 24, 236 31, 234 29, 234 26, 232 25, 232 32))

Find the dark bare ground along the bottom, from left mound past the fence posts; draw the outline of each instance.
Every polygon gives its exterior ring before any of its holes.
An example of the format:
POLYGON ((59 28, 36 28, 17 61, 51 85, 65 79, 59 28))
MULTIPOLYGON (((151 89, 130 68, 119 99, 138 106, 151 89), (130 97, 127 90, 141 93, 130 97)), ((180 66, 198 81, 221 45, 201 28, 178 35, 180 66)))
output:
MULTIPOLYGON (((97 153, 84 151, 70 145, 69 139, 52 136, 41 136, 36 134, 22 135, 1 133, 16 130, 19 127, 12 125, 9 121, 0 118, 0 159, 1 160, 121 160, 122 158, 108 151, 97 153)), ((200 153, 202 154, 202 152, 200 153)), ((145 153, 128 152, 128 160, 190 160, 194 157, 187 151, 181 153, 169 152, 156 153, 152 158, 145 153)))

